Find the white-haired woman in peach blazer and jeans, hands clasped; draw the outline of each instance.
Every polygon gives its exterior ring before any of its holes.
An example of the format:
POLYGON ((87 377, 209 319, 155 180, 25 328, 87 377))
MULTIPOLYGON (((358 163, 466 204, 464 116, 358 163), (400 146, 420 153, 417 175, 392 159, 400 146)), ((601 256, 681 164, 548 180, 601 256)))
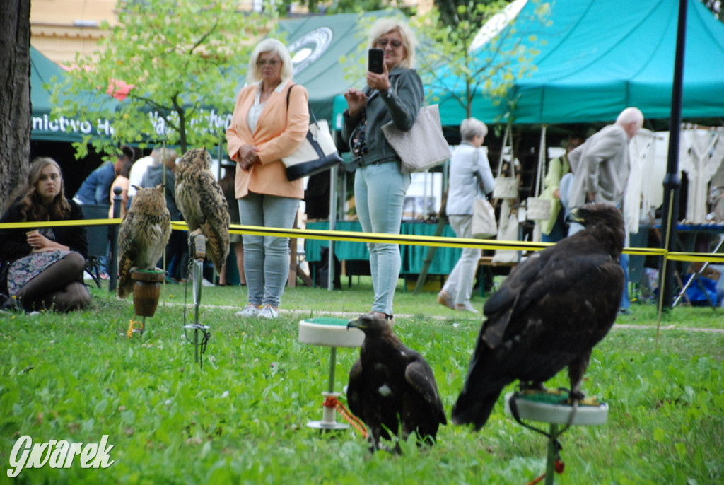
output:
MULTIPOLYGON (((298 86, 288 93, 293 72, 284 44, 264 39, 251 54, 249 83, 236 99, 226 135, 245 226, 291 229, 304 196, 303 181, 290 181, 282 163, 309 127, 307 90, 298 86)), ((248 303, 236 315, 276 319, 289 274, 289 238, 245 234, 243 242, 248 303)))

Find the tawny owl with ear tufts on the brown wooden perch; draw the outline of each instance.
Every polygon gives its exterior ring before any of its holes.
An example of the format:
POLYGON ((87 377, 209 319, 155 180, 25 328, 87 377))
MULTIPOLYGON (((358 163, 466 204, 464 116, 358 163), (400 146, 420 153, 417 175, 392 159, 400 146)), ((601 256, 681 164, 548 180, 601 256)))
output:
POLYGON ((118 298, 133 290, 131 271, 156 269, 171 236, 163 185, 136 190, 118 232, 118 298))

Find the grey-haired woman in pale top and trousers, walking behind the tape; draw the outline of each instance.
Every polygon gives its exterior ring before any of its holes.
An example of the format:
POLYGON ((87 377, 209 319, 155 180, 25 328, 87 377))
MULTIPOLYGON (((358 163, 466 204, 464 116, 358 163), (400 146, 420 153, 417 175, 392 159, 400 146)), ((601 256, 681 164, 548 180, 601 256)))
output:
MULTIPOLYGON (((475 118, 464 120, 460 125, 463 143, 455 148, 450 159, 447 218, 458 237, 473 237, 473 201, 491 193, 495 185, 487 156, 480 150, 487 134, 484 122, 475 118)), ((470 295, 480 256, 479 248, 463 249, 445 286, 437 294, 437 303, 452 310, 478 313, 470 304, 470 295)))

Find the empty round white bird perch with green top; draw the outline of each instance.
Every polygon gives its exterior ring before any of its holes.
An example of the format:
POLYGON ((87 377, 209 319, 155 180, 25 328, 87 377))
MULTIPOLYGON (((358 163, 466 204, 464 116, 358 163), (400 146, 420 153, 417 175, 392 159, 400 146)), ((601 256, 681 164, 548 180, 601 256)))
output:
MULTIPOLYGON (((299 342, 309 345, 329 347, 329 384, 327 391, 322 392, 325 402, 328 398, 336 398, 334 392, 334 366, 337 364, 337 347, 360 347, 364 342, 364 334, 359 329, 347 329, 346 319, 318 317, 299 322, 299 342)), ((345 423, 338 423, 334 418, 334 407, 324 405, 321 421, 309 421, 307 426, 314 429, 348 429, 345 423)))

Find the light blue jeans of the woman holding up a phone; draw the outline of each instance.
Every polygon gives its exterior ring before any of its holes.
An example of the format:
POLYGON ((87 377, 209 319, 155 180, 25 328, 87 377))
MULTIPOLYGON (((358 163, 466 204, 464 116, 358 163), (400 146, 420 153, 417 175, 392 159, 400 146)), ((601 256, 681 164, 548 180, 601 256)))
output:
MULTIPOLYGON (((355 208, 364 232, 400 234, 410 181, 410 174, 400 172, 399 161, 357 169, 355 208)), ((367 249, 374 290, 372 311, 392 314, 392 299, 400 278, 400 246, 368 242, 367 249)))

